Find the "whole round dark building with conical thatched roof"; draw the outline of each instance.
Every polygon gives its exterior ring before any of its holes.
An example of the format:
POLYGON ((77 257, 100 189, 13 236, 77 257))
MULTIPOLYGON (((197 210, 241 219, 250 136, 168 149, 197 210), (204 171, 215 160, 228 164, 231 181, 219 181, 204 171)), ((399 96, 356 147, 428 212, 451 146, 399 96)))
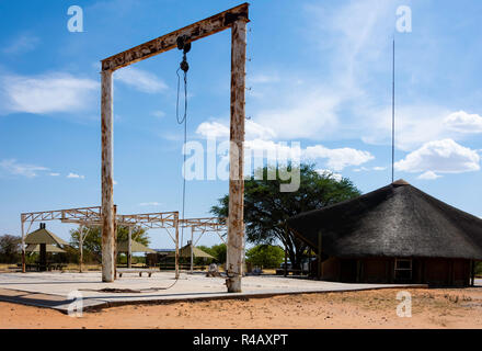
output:
POLYGON ((288 226, 321 254, 323 280, 464 286, 482 260, 482 219, 403 180, 288 226))

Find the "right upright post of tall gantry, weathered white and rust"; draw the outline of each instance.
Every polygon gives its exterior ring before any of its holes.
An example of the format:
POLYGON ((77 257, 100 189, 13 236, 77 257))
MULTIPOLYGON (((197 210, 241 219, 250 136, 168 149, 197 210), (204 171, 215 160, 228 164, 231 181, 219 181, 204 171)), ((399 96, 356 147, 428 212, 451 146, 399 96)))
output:
POLYGON ((246 21, 231 26, 231 124, 229 149, 229 218, 226 285, 229 293, 241 292, 244 246, 244 84, 246 21))

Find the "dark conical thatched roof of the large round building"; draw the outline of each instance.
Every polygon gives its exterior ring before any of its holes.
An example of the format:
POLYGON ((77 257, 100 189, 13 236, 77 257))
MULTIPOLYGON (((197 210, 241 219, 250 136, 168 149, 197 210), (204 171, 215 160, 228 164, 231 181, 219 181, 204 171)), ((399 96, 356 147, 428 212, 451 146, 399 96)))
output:
POLYGON ((482 219, 403 180, 288 219, 296 235, 335 257, 432 257, 482 260, 482 219))

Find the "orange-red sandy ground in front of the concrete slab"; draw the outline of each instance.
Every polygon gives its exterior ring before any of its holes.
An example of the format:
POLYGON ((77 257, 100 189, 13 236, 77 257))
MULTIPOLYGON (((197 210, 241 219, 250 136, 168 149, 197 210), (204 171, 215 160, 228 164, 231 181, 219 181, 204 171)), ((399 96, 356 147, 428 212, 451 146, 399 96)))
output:
POLYGON ((397 316, 400 290, 130 305, 72 318, 0 303, 0 328, 482 328, 482 288, 408 290, 412 317, 397 316))

